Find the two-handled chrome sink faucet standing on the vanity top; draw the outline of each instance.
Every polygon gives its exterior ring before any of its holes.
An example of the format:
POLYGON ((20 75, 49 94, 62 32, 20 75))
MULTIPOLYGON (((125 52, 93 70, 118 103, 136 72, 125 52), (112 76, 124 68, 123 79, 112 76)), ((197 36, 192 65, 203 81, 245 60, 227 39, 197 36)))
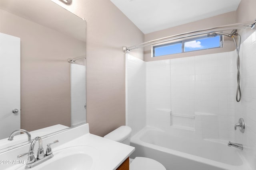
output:
POLYGON ((53 143, 56 143, 56 142, 58 142, 58 140, 48 144, 46 150, 50 150, 50 152, 46 151, 46 154, 44 154, 43 141, 40 137, 36 137, 30 144, 29 151, 27 153, 18 155, 18 158, 21 158, 28 154, 28 163, 26 164, 25 169, 33 168, 34 166, 37 166, 38 164, 41 164, 42 162, 53 157, 52 149, 51 149, 50 145, 52 145, 53 143), (39 147, 38 147, 38 151, 37 151, 37 156, 35 158, 34 146, 36 144, 36 141, 38 141, 39 147))

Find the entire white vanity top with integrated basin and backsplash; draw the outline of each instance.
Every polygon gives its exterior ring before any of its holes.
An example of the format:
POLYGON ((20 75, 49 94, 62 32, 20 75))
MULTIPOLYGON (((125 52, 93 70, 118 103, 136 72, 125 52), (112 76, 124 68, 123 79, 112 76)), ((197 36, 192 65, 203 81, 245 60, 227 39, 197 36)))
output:
POLYGON ((39 138, 36 140, 35 145, 32 145, 34 148, 31 148, 34 150, 34 156, 41 147, 40 143, 43 144, 44 153, 46 150, 48 153, 50 150, 46 149, 46 145, 55 142, 56 144, 52 145, 53 156, 26 166, 29 156, 25 153, 30 150, 27 144, 0 153, 0 160, 8 160, 8 164, 1 164, 0 169, 24 170, 25 167, 40 163, 31 170, 113 170, 117 169, 134 151, 134 147, 90 134, 88 123, 54 134, 42 141, 39 138), (58 143, 56 143, 57 139, 58 143), (18 155, 24 156, 17 158, 18 155))

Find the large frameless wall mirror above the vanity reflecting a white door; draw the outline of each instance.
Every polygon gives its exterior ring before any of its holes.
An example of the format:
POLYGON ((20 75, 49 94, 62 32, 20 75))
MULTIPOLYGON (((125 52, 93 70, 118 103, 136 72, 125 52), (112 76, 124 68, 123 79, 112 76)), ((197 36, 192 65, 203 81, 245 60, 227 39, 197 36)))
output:
POLYGON ((27 140, 5 139, 17 129, 43 136, 86 123, 84 19, 50 0, 0 0, 0 45, 0 149, 27 140))

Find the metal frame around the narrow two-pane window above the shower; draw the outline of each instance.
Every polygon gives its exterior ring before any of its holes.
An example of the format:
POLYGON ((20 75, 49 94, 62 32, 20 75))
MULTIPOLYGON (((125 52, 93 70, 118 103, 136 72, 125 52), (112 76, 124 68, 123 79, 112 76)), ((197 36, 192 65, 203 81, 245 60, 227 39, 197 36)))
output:
MULTIPOLYGON (((222 48, 223 47, 223 35, 217 35, 220 37, 220 47, 212 47, 212 48, 207 48, 207 49, 198 49, 198 50, 194 50, 194 51, 201 51, 201 50, 208 50, 208 49, 216 49, 216 48, 222 48)), ((175 55, 175 54, 181 54, 181 53, 190 53, 193 51, 184 51, 185 47, 184 44, 186 42, 190 42, 190 41, 195 41, 195 40, 200 40, 200 39, 206 39, 206 38, 211 38, 211 37, 207 37, 207 35, 204 36, 200 36, 200 37, 196 37, 196 38, 190 38, 190 39, 182 39, 181 41, 168 41, 168 42, 164 42, 164 43, 158 43, 158 44, 154 44, 151 45, 151 57, 162 57, 162 56, 167 56, 167 55, 175 55), (157 47, 164 47, 164 46, 168 46, 168 45, 175 45, 175 44, 179 44, 181 43, 181 53, 174 53, 174 54, 167 54, 167 55, 159 55, 159 56, 154 56, 155 54, 155 48, 157 47)))

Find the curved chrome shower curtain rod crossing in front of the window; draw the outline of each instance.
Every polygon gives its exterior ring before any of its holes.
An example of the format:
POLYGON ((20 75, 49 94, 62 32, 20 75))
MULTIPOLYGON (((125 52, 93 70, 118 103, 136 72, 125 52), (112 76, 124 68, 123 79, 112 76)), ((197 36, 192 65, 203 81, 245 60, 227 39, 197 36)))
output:
POLYGON ((207 28, 207 29, 200 29, 197 31, 191 31, 191 32, 186 32, 186 33, 181 33, 177 35, 171 35, 168 37, 163 37, 160 39, 155 39, 152 41, 148 41, 145 43, 141 43, 138 45, 132 45, 130 47, 123 46, 123 51, 124 53, 129 53, 132 49, 138 49, 140 47, 146 47, 148 45, 155 45, 158 43, 164 43, 167 41, 172 41, 172 40, 178 40, 181 38, 187 38, 187 37, 193 37, 196 35, 203 35, 203 34, 208 34, 212 32, 217 32, 217 31, 226 31, 226 30, 233 30, 233 29, 242 29, 242 28, 248 28, 251 27, 251 29, 256 29, 256 20, 254 21, 248 21, 244 23, 235 23, 235 24, 230 24, 230 25, 222 25, 218 27, 212 27, 212 28, 207 28))

